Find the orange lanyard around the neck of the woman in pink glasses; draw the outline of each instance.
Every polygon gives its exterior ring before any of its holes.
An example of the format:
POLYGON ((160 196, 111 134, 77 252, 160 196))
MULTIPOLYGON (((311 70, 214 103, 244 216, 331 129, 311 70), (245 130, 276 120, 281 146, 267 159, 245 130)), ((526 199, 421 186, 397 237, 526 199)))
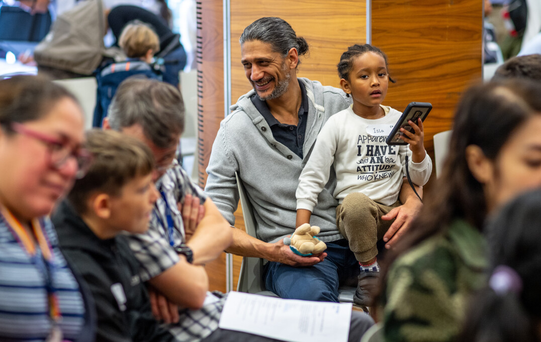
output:
POLYGON ((28 232, 23 228, 21 222, 19 222, 15 216, 13 216, 11 212, 3 206, 0 206, 0 213, 2 216, 4 216, 5 222, 7 223, 6 225, 17 240, 18 244, 30 255, 32 264, 34 264, 43 274, 43 277, 45 278, 45 289, 47 290, 47 299, 49 302, 49 317, 55 323, 58 323, 58 321, 60 321, 62 318, 62 313, 60 311, 60 305, 58 304, 56 289, 52 285, 51 269, 54 268, 54 265, 51 261, 52 258, 54 258, 54 253, 52 252, 49 241, 43 233, 41 223, 38 219, 33 219, 31 222, 32 232, 34 233, 34 237, 39 245, 39 249, 41 249, 41 253, 39 253, 38 256, 34 241, 32 241, 31 237, 28 235, 28 232), (39 260, 39 257, 41 257, 42 260, 39 260))

